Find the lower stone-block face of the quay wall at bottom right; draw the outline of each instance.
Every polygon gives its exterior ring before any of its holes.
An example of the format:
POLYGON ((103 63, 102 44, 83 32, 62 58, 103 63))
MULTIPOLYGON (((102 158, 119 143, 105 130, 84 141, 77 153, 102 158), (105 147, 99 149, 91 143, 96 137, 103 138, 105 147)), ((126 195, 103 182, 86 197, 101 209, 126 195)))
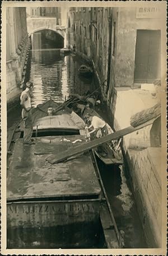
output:
POLYGON ((148 245, 161 247, 161 148, 128 149, 127 159, 139 217, 148 245))

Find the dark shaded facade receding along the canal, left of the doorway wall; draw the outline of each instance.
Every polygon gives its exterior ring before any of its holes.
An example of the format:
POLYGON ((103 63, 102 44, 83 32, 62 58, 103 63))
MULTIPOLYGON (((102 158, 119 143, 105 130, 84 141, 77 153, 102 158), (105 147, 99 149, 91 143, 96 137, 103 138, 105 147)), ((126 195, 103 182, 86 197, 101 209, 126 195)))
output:
POLYGON ((106 96, 111 8, 72 7, 67 19, 67 47, 92 61, 106 96))

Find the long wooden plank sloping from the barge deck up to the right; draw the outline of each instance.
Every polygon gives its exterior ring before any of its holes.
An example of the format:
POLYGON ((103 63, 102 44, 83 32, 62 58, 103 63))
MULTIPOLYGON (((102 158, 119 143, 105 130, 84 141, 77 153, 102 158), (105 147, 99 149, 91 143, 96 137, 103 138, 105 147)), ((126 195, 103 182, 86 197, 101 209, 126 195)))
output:
POLYGON ((92 140, 92 141, 83 143, 82 145, 79 145, 73 149, 68 149, 64 152, 60 152, 57 155, 51 154, 49 157, 46 158, 46 161, 48 161, 49 163, 52 163, 52 164, 62 162, 64 160, 68 159, 69 157, 76 156, 79 153, 86 152, 86 151, 88 151, 92 148, 95 148, 98 145, 101 145, 103 143, 106 143, 110 140, 118 139, 124 135, 130 134, 133 131, 142 129, 143 127, 145 127, 147 125, 151 125, 152 122, 153 122, 153 120, 147 122, 146 124, 137 126, 137 127, 129 126, 120 131, 116 131, 113 134, 106 135, 100 139, 92 140))

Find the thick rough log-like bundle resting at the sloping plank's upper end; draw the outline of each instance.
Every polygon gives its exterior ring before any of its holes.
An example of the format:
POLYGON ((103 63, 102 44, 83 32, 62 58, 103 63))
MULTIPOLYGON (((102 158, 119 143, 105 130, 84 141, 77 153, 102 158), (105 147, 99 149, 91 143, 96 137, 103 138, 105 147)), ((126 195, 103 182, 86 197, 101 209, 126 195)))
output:
POLYGON ((161 115, 161 103, 157 103, 155 106, 148 109, 144 109, 143 111, 133 115, 130 118, 130 125, 132 125, 133 127, 136 127, 138 125, 142 125, 145 122, 150 121, 153 118, 157 118, 160 115, 161 115))

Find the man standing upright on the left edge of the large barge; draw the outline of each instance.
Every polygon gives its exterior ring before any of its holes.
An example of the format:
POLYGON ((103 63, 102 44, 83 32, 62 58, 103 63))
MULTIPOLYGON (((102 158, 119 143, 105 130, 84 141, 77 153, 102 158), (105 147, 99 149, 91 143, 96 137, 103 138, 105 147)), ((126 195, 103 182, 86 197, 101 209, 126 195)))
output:
POLYGON ((32 116, 31 116, 31 88, 32 83, 26 83, 26 89, 21 93, 20 104, 22 106, 22 120, 24 121, 24 144, 32 145, 35 142, 31 139, 32 136, 32 116))

